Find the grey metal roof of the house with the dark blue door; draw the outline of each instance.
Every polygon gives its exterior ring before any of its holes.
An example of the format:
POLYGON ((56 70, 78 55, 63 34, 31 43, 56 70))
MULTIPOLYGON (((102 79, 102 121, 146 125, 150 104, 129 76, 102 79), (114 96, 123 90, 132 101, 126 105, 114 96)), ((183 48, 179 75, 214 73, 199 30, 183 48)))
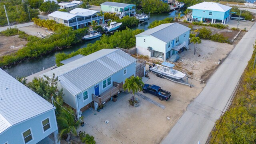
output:
POLYGON ((136 59, 120 49, 102 49, 44 74, 52 77, 54 73, 62 86, 76 96, 133 62, 136 59))

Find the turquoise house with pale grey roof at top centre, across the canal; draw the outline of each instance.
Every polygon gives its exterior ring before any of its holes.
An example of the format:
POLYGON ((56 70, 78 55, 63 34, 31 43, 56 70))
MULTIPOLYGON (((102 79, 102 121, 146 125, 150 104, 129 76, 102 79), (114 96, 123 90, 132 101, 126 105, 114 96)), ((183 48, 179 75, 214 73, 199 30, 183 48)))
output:
POLYGON ((124 4, 119 2, 104 2, 100 4, 102 12, 119 14, 120 17, 136 14, 135 4, 124 4))

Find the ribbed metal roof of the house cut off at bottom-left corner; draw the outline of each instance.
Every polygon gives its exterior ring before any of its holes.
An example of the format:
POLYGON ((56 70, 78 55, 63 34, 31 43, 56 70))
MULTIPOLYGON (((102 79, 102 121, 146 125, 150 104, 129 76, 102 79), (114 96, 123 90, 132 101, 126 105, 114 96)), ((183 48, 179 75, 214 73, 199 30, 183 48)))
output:
POLYGON ((2 69, 0 78, 0 134, 14 124, 55 108, 2 69))

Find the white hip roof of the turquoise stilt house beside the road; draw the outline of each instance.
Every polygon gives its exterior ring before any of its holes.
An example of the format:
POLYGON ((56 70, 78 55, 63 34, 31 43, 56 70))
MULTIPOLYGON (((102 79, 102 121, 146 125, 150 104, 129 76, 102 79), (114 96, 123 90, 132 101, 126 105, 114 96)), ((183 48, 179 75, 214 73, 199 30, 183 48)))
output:
POLYGON ((231 8, 232 7, 230 7, 230 6, 219 4, 216 2, 201 2, 194 6, 188 7, 188 9, 210 10, 210 11, 216 11, 216 12, 226 12, 226 11, 230 10, 231 8))

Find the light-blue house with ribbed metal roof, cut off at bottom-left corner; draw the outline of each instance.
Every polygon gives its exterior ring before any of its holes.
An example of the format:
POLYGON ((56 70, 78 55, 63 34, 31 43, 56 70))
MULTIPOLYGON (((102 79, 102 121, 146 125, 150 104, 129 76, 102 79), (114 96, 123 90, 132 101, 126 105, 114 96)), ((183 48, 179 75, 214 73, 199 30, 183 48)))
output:
POLYGON ((0 78, 0 144, 59 144, 55 107, 2 69, 0 78))

